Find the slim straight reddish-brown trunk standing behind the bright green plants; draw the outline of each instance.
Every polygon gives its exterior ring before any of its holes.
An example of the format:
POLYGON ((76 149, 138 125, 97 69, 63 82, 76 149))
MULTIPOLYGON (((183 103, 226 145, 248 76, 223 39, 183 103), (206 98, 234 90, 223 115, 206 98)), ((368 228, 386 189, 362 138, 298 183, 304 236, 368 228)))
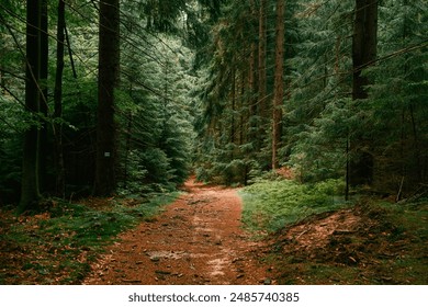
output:
POLYGON ((284 99, 284 0, 277 0, 275 78, 272 116, 272 170, 279 167, 278 147, 281 143, 282 103, 284 99))

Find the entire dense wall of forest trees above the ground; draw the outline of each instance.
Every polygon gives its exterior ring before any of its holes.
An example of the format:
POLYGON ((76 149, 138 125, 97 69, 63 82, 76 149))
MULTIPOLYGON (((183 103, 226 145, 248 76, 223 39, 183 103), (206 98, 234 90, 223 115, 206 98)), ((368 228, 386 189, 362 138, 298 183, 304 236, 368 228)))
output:
POLYGON ((4 0, 0 204, 286 173, 424 193, 428 8, 408 0, 4 0))

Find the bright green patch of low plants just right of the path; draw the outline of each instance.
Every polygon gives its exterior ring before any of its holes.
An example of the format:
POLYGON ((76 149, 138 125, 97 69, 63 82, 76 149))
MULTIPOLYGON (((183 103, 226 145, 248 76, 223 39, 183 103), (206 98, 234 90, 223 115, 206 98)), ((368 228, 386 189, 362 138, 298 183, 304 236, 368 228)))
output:
POLYGON ((345 206, 335 180, 300 184, 292 180, 260 181, 240 191, 243 221, 254 230, 277 231, 306 217, 345 206))

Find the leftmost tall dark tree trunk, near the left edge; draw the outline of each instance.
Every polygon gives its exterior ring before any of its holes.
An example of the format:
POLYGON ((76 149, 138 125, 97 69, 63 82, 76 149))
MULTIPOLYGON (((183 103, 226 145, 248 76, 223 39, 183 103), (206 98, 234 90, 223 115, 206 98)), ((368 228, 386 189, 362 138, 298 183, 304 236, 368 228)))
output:
MULTIPOLYGON (((41 70, 41 0, 26 1, 26 69, 25 110, 36 121, 40 112, 41 70)), ((36 124, 31 124, 24 134, 22 186, 19 212, 35 209, 40 198, 38 187, 40 134, 36 124)))

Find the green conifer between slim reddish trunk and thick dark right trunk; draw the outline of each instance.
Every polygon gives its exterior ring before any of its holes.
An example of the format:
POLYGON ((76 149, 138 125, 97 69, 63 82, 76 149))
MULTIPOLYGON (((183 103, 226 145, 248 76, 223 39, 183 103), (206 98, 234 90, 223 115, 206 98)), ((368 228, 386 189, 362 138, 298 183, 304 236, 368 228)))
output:
POLYGON ((302 1, 284 116, 283 155, 301 181, 345 178, 351 103, 352 9, 348 1, 302 1))

